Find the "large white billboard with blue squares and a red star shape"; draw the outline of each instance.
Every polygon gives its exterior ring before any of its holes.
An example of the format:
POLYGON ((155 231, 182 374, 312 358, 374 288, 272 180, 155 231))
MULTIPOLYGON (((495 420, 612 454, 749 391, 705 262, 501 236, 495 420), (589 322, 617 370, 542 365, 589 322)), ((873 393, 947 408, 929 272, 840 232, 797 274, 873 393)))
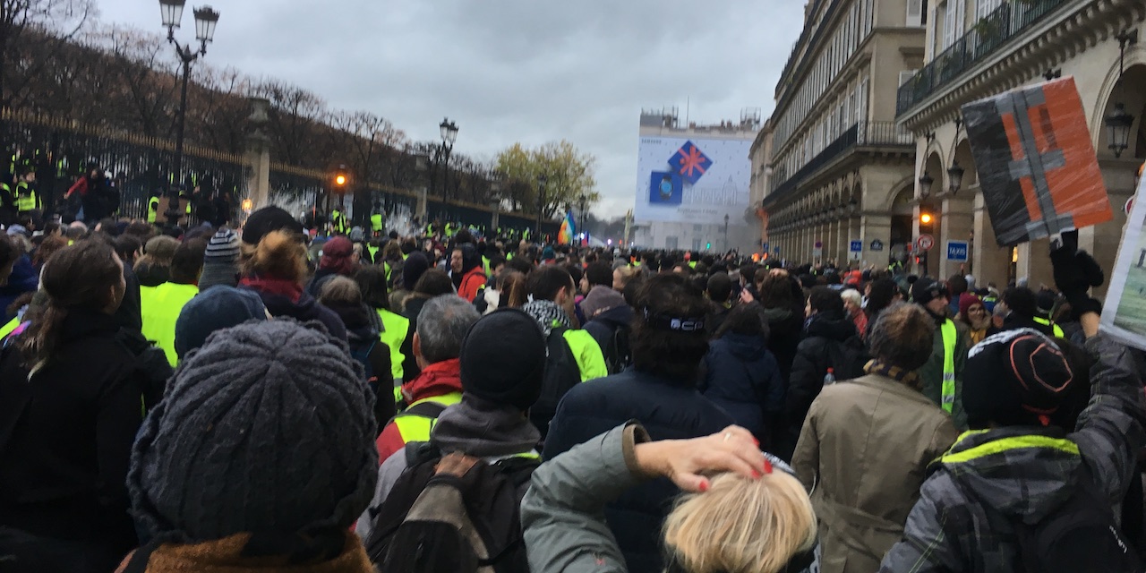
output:
POLYGON ((724 223, 748 206, 751 139, 642 136, 637 221, 724 223))

